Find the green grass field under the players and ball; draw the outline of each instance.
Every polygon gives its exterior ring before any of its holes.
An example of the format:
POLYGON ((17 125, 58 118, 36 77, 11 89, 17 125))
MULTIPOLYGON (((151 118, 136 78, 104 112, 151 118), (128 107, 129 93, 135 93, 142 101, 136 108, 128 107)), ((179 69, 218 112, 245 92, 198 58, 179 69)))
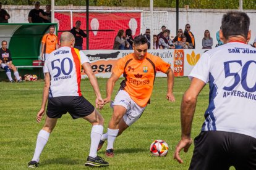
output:
MULTIPOLYGON (((105 97, 107 79, 98 79, 101 95, 105 97)), ((119 88, 117 82, 113 96, 119 88)), ((151 104, 142 117, 117 137, 114 158, 104 155, 106 144, 98 152, 109 162, 106 169, 188 169, 194 145, 188 153, 181 153, 183 164, 173 160, 174 148, 181 137, 180 105, 182 95, 189 87, 188 78, 175 78, 174 95, 176 102, 165 98, 166 78, 156 78, 151 104), (150 155, 150 144, 155 139, 163 139, 169 145, 166 157, 150 155)), ((25 83, 0 83, 0 169, 27 169, 33 157, 36 137, 43 122, 36 123, 36 113, 40 110, 43 81, 25 83)), ((82 94, 95 105, 95 95, 88 79, 81 83, 82 94)), ((208 86, 205 86, 197 101, 192 127, 192 137, 200 132, 203 114, 208 105, 208 86)), ((105 118, 105 131, 112 110, 106 105, 101 114, 105 118)), ((72 119, 69 114, 62 116, 49 137, 40 159, 40 169, 85 169, 90 149, 91 125, 84 119, 72 119)))

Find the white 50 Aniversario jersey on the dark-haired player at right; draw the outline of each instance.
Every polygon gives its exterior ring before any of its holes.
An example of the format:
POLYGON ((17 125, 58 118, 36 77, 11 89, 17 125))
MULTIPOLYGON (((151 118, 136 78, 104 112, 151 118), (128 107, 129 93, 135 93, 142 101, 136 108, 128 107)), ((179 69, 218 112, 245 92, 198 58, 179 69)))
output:
POLYGON ((225 131, 256 138, 256 49, 229 42, 205 52, 189 78, 209 83, 202 131, 225 131))

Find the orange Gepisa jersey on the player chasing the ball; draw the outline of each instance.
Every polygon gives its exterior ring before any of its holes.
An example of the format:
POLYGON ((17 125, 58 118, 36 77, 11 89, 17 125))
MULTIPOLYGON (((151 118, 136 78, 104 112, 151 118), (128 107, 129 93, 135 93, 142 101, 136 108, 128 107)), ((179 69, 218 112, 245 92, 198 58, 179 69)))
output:
POLYGON ((145 59, 136 60, 132 53, 117 61, 113 73, 116 76, 124 74, 120 89, 128 92, 137 105, 145 107, 153 91, 156 71, 166 73, 170 66, 155 55, 147 53, 145 59))

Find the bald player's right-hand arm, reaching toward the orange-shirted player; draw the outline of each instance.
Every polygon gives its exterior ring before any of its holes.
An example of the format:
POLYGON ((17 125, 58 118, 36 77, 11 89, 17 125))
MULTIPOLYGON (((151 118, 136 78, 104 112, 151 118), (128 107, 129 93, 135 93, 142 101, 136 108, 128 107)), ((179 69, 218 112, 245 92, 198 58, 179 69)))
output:
POLYGON ((101 98, 101 94, 100 94, 100 88, 98 85, 98 81, 96 79, 96 76, 94 75, 91 65, 90 63, 83 63, 82 64, 83 70, 85 70, 85 73, 87 74, 90 83, 92 84, 93 90, 95 92, 96 95, 96 100, 95 100, 95 104, 96 104, 96 108, 103 108, 104 102, 103 99, 101 98))

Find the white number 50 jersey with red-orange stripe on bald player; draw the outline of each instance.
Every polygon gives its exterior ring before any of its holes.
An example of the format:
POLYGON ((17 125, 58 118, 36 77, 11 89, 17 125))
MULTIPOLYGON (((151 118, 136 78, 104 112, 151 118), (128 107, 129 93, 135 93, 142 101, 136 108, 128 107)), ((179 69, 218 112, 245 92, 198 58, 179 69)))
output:
POLYGON ((51 76, 49 97, 81 96, 81 65, 85 62, 90 60, 78 49, 61 47, 51 52, 43 67, 51 76))

